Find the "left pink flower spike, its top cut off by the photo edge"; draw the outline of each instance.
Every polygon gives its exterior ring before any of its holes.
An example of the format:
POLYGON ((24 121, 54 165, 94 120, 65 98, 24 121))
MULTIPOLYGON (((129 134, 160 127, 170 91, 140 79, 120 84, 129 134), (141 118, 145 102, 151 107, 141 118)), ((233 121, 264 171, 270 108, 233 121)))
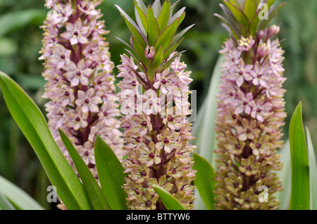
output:
MULTIPOLYGON (((97 176, 94 140, 97 133, 122 159, 122 134, 118 130, 120 112, 112 75, 113 62, 104 39, 104 21, 96 7, 102 1, 52 1, 44 25, 43 77, 47 83, 44 98, 49 128, 71 162, 58 128, 63 129, 82 159, 97 176)), ((75 166, 73 166, 75 169, 75 166)))

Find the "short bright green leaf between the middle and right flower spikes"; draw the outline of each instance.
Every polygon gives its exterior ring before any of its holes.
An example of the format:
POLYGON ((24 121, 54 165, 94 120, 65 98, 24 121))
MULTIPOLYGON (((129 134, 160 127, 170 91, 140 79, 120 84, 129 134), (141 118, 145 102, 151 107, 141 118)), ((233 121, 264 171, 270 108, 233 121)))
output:
POLYGON ((214 210, 213 190, 215 190, 216 180, 213 180, 213 178, 215 177, 215 171, 213 171, 211 164, 199 154, 194 153, 194 162, 193 169, 197 171, 194 184, 199 191, 199 195, 204 200, 206 208, 214 210))

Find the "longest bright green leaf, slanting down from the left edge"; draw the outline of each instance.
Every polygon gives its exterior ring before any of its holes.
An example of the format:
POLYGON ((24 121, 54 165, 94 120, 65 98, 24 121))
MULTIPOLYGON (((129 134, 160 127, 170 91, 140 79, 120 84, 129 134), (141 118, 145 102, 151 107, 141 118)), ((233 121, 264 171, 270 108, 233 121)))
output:
POLYGON ((0 86, 8 110, 35 150, 63 203, 68 209, 91 209, 85 188, 58 148, 37 105, 3 72, 0 72, 0 86))

